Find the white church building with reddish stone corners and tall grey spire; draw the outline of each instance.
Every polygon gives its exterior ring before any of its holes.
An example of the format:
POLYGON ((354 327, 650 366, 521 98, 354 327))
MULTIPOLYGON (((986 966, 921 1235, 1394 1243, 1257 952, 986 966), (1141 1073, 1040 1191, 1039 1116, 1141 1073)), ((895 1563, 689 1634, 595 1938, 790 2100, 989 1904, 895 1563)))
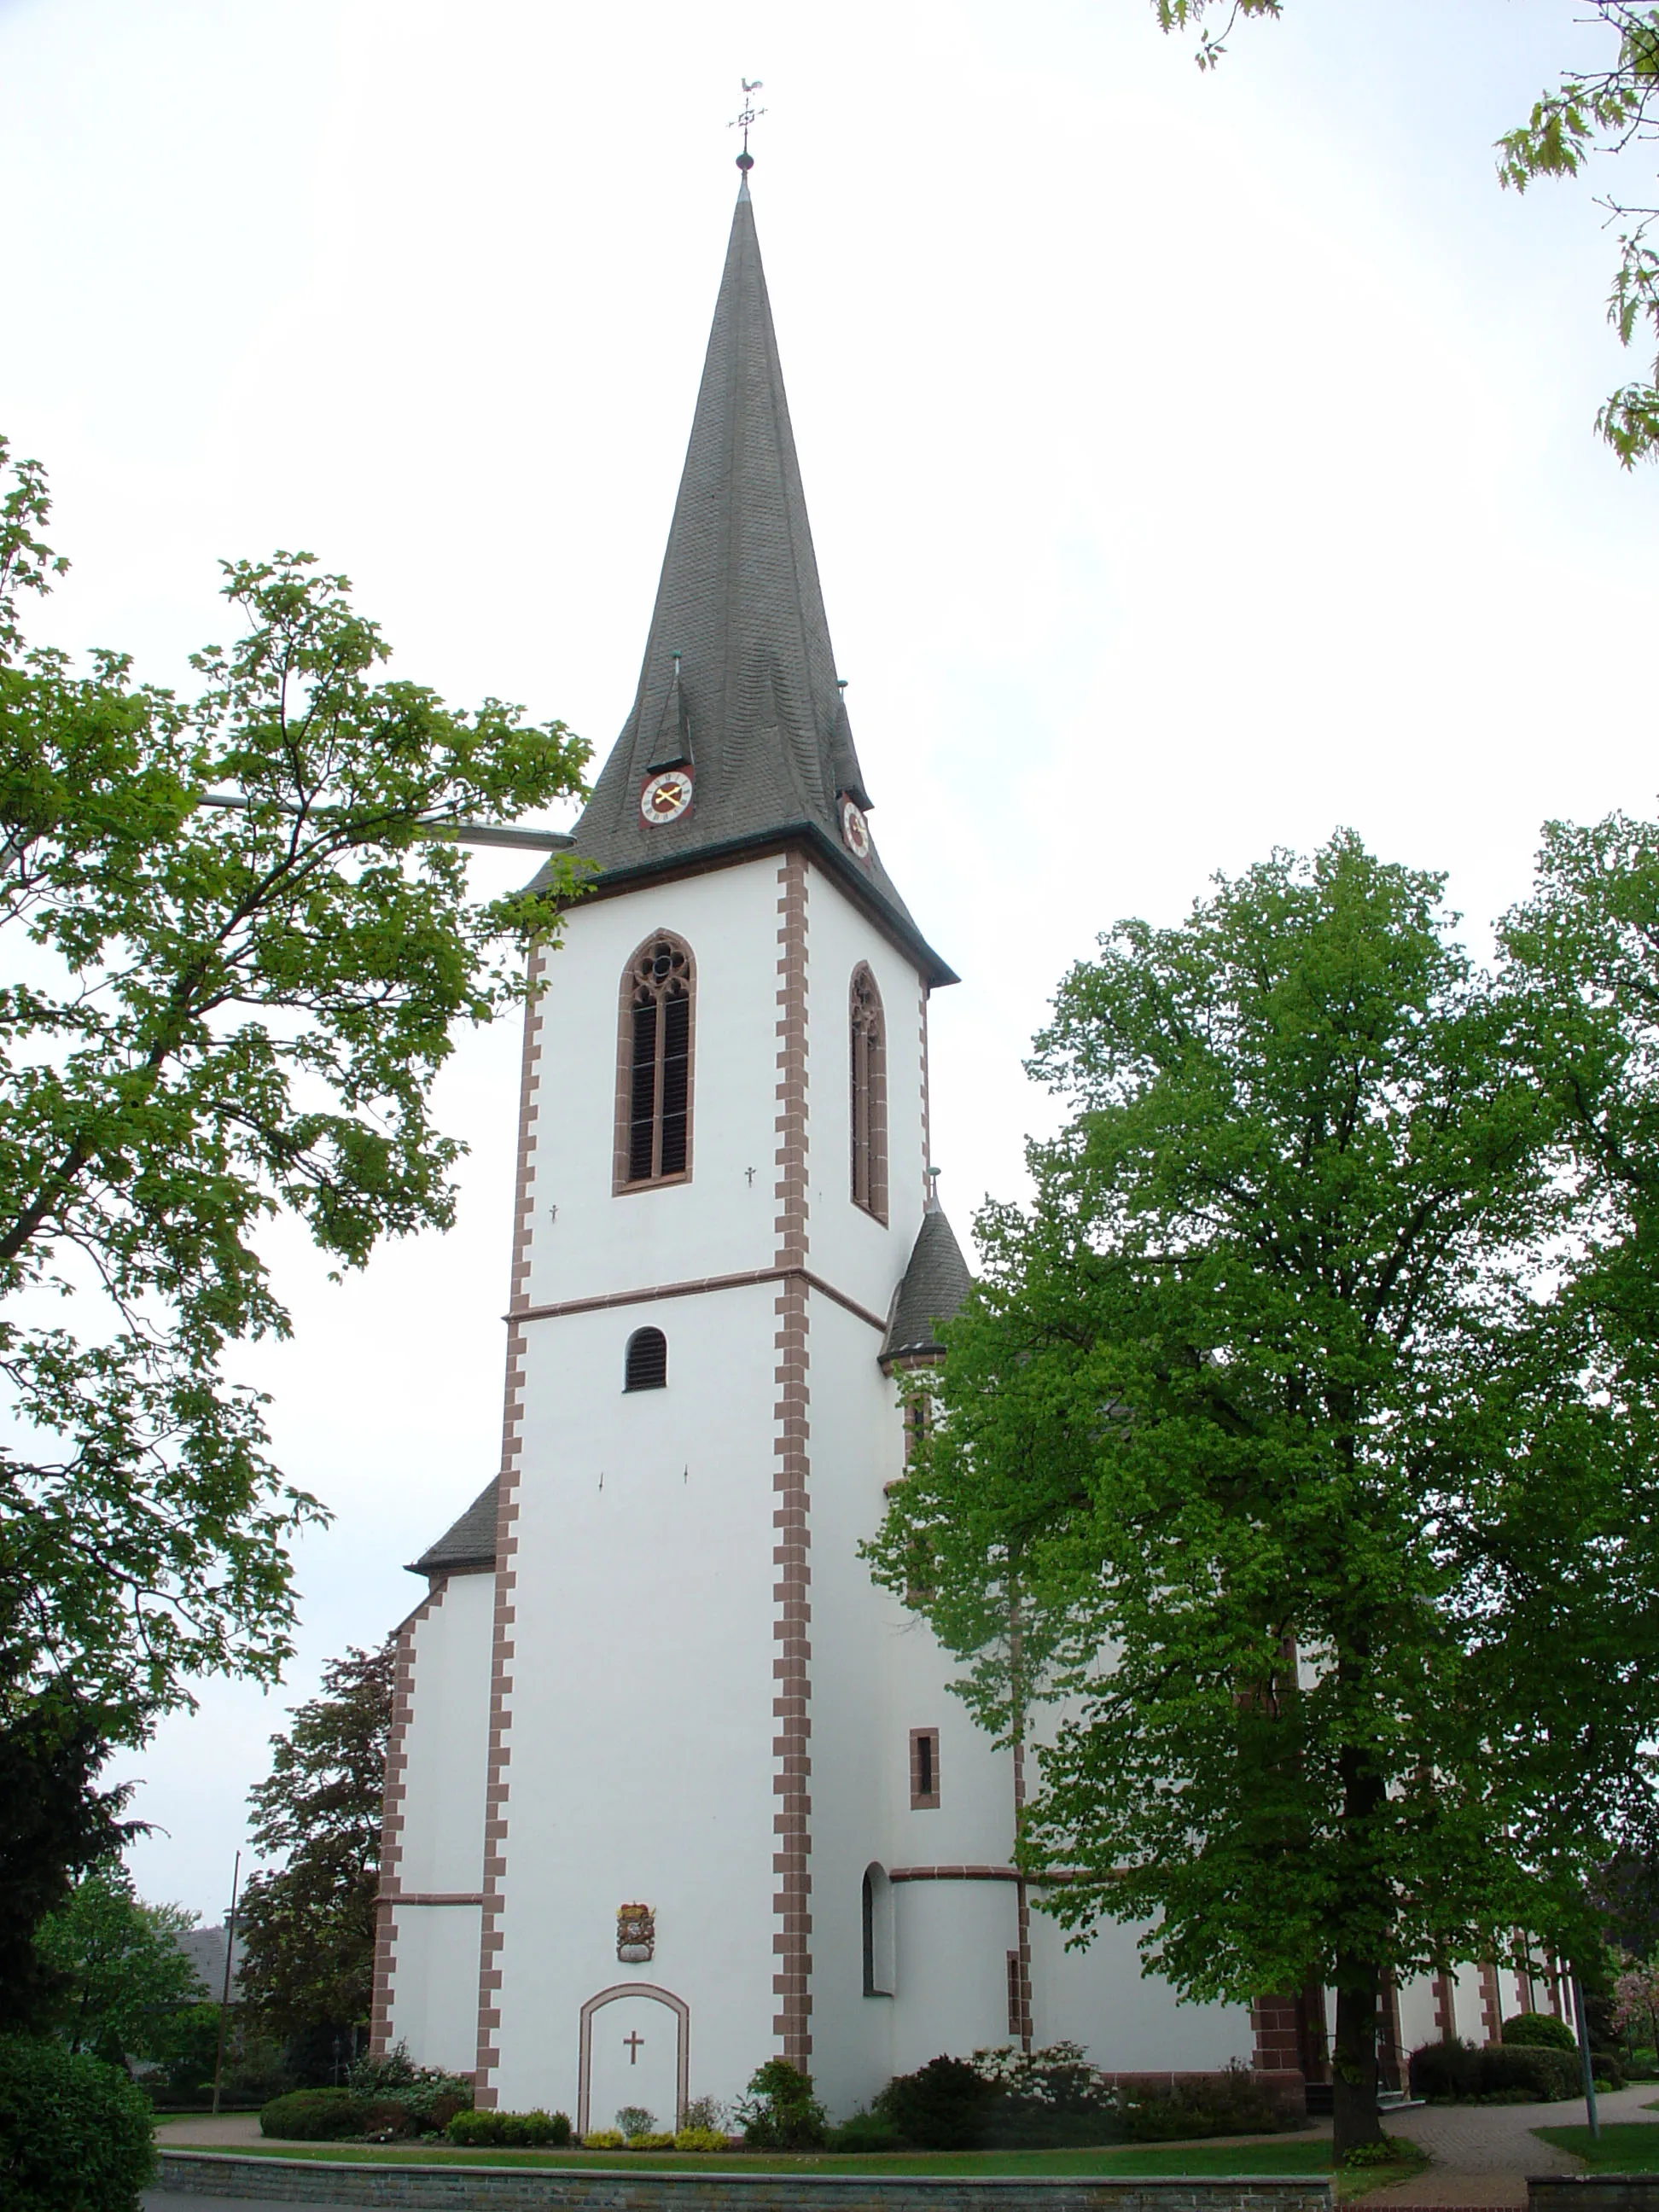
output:
MULTIPOLYGON (((931 1197, 927 1009, 830 646, 748 179, 628 721, 535 956, 502 1464, 416 1562, 376 2044, 580 2130, 841 2117, 940 2051, 1323 2075, 1323 1995, 1177 2006, 1068 1953, 1015 1776, 858 1557, 902 1369, 969 1283, 931 1197)), ((1493 1969, 1407 1993, 1495 2033, 1493 1969)), ((1506 2006, 1515 2008, 1515 2006, 1506 2006)), ((1387 2033, 1385 2033, 1387 2044, 1387 2033)))

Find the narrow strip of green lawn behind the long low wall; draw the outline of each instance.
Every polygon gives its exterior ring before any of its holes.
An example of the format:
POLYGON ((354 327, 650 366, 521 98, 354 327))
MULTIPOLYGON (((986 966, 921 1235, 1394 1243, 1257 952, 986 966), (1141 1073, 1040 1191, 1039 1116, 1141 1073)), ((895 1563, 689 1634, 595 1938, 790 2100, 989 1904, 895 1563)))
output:
MULTIPOLYGON (((1659 2135, 1659 2128, 1655 2128, 1659 2135)), ((192 2143, 168 2143, 192 2150, 192 2143)), ((208 2148, 208 2146, 201 2146, 208 2148)), ((860 2157, 717 2157, 657 2150, 447 2150, 442 2143, 237 2143, 215 2146, 234 2159, 347 2159, 367 2166, 562 2166, 599 2172, 743 2172, 743 2174, 1327 2174, 1332 2146, 1314 2135, 1279 2135, 1254 2143, 1115 2143, 1108 2150, 940 2150, 867 2152, 860 2157)), ((1387 2174, 1383 2179, 1398 2179, 1387 2174)), ((1376 2181, 1367 2174, 1367 2185, 1376 2181)))

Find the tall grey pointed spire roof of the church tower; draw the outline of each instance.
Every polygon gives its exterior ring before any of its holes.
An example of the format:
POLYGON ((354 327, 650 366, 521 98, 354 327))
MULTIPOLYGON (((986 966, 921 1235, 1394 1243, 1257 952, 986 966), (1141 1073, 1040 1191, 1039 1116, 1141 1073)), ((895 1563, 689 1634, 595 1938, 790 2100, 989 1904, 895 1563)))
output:
POLYGON ((956 982, 874 843, 865 856, 845 843, 843 799, 869 807, 836 681, 745 177, 639 690, 573 849, 597 865, 597 889, 606 889, 801 836, 914 951, 929 982, 956 982), (677 821, 646 823, 639 794, 666 768, 690 770, 692 803, 677 821))

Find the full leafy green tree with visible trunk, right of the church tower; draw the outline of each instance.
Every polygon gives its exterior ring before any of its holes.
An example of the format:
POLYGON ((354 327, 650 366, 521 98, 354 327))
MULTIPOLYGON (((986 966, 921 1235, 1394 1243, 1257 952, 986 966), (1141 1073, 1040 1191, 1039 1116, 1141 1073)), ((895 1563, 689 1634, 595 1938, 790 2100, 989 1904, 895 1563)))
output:
POLYGON ((1528 1294, 1571 1194, 1513 1029, 1440 878, 1349 834, 1104 938, 872 1553, 984 1725, 1055 1701, 1046 1911, 1146 1920, 1186 1997, 1336 1989, 1343 2150, 1383 1978, 1573 1933, 1655 1719, 1652 1628, 1586 1564, 1621 1416, 1528 1294), (1646 1683, 1595 1681, 1624 1632, 1646 1683))

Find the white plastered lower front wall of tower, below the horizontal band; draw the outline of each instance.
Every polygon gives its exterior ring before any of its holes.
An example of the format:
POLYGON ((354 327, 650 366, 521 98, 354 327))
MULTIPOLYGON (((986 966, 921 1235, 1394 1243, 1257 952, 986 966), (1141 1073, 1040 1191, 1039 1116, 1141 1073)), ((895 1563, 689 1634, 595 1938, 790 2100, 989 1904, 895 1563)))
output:
POLYGON ((622 1389, 635 1307, 526 1332, 507 2110, 575 2115, 580 2008, 617 1982, 690 2004, 692 2095, 772 2048, 772 1287, 648 1316, 661 1391, 622 1389), (648 1964, 617 1960, 633 1902, 657 1911, 648 1964))

